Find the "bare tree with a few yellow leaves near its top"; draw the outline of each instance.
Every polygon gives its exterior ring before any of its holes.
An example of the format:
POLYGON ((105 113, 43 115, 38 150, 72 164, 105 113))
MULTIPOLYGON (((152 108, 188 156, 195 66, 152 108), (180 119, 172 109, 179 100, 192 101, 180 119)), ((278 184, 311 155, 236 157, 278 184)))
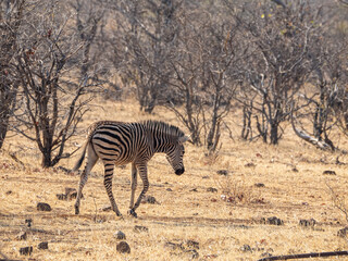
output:
POLYGON ((253 113, 264 142, 278 142, 281 123, 311 73, 307 57, 316 14, 312 9, 303 1, 293 1, 286 9, 250 1, 232 10, 250 42, 237 100, 253 113))

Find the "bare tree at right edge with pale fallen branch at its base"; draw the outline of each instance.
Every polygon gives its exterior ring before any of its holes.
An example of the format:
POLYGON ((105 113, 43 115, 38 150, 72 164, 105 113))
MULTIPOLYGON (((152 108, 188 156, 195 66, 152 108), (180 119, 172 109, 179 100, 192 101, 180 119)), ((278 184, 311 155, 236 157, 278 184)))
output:
POLYGON ((291 115, 295 133, 321 149, 335 150, 330 134, 339 126, 345 133, 347 115, 347 34, 339 32, 339 16, 335 4, 322 5, 316 21, 315 40, 309 48, 309 62, 314 69, 308 79, 312 88, 302 88, 296 116, 291 115), (320 23, 320 24, 319 24, 320 23), (304 107, 303 104, 308 104, 304 107), (301 122, 309 121, 312 132, 301 122))

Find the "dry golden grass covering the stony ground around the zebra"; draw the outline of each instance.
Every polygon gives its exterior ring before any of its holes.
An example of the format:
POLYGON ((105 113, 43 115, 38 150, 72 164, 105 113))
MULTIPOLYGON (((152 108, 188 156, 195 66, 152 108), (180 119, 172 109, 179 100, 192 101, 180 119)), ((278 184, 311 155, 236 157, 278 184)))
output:
MULTIPOLYGON (((98 120, 149 119, 139 113, 134 100, 98 100, 97 104, 82 124, 84 128, 98 120)), ((339 161, 346 164, 336 164, 338 154, 315 150, 290 130, 276 147, 261 141, 240 141, 238 116, 236 111, 228 117, 235 139, 223 137, 216 160, 207 159, 203 148, 187 145, 187 171, 179 177, 164 156, 158 154, 150 161, 148 195, 154 196, 160 204, 141 204, 138 219, 126 215, 130 196, 129 165, 117 167, 114 174, 113 191, 123 220, 117 220, 113 212, 100 210, 109 204, 100 163, 85 186, 80 214, 74 215, 74 201, 58 200, 55 195, 64 192, 65 187, 76 188, 78 176, 41 170, 34 144, 20 137, 9 138, 3 149, 16 152, 25 169, 7 153, 0 156, 0 259, 28 259, 20 256, 18 249, 33 246, 30 258, 34 260, 190 260, 192 251, 167 246, 169 241, 186 240, 199 243, 198 260, 257 260, 265 252, 277 256, 347 250, 347 239, 337 236, 347 221, 343 212, 334 208, 327 184, 338 196, 345 195, 348 157, 339 156, 339 161), (219 170, 227 170, 228 175, 219 175, 219 170), (337 175, 323 175, 326 170, 337 175), (254 186, 258 183, 264 187, 254 186), (210 187, 217 192, 207 191, 210 187), (225 200, 222 195, 226 196, 225 200), (52 211, 37 211, 37 202, 49 203, 52 211), (284 225, 260 222, 271 216, 282 219, 284 225), (28 217, 33 219, 30 229, 25 225, 28 217), (314 219, 318 224, 314 228, 301 227, 301 219, 314 219), (136 233, 135 225, 147 226, 149 231, 136 233), (24 231, 27 239, 16 239, 24 231), (117 231, 126 234, 129 254, 116 251, 117 240, 113 235, 117 231), (38 250, 37 245, 45 240, 49 249, 38 250), (244 251, 245 245, 249 245, 251 251, 244 251)), ((151 119, 183 127, 173 114, 160 108, 151 119)), ((82 138, 77 141, 83 142, 82 138)), ((348 149, 348 141, 341 139, 340 147, 348 149)), ((61 161, 60 165, 71 169, 76 158, 61 161)), ((137 192, 140 188, 141 183, 137 192)))

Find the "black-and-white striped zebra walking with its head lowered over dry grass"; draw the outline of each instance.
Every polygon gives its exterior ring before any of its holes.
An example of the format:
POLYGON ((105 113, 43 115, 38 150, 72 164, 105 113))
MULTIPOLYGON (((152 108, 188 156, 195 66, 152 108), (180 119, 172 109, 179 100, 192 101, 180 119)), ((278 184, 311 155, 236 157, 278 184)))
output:
POLYGON ((78 191, 75 202, 75 214, 79 213, 82 191, 87 183, 88 174, 100 158, 104 165, 104 187, 109 196, 112 210, 122 216, 112 194, 112 177, 115 165, 132 163, 132 192, 128 214, 137 217, 135 210, 139 207, 148 188, 147 163, 154 153, 163 152, 176 175, 185 172, 183 157, 184 142, 189 137, 178 127, 159 121, 144 121, 139 123, 124 123, 101 121, 92 124, 88 130, 87 140, 82 156, 72 172, 76 172, 86 156, 86 166, 80 174, 78 191), (142 191, 134 203, 137 187, 137 173, 142 181, 142 191))

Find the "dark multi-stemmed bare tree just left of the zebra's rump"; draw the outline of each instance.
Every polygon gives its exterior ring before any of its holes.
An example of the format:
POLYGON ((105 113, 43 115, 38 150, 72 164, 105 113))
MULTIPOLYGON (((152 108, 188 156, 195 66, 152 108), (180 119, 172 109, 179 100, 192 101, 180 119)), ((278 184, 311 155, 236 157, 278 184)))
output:
POLYGON ((13 61, 23 98, 15 113, 21 125, 14 128, 37 144, 41 165, 48 167, 70 156, 64 153, 66 140, 74 135, 90 100, 82 96, 95 84, 88 76, 77 77, 76 88, 64 80, 72 72, 78 73, 82 61, 73 62, 73 58, 85 44, 67 26, 73 14, 57 1, 35 1, 28 7, 13 61))

